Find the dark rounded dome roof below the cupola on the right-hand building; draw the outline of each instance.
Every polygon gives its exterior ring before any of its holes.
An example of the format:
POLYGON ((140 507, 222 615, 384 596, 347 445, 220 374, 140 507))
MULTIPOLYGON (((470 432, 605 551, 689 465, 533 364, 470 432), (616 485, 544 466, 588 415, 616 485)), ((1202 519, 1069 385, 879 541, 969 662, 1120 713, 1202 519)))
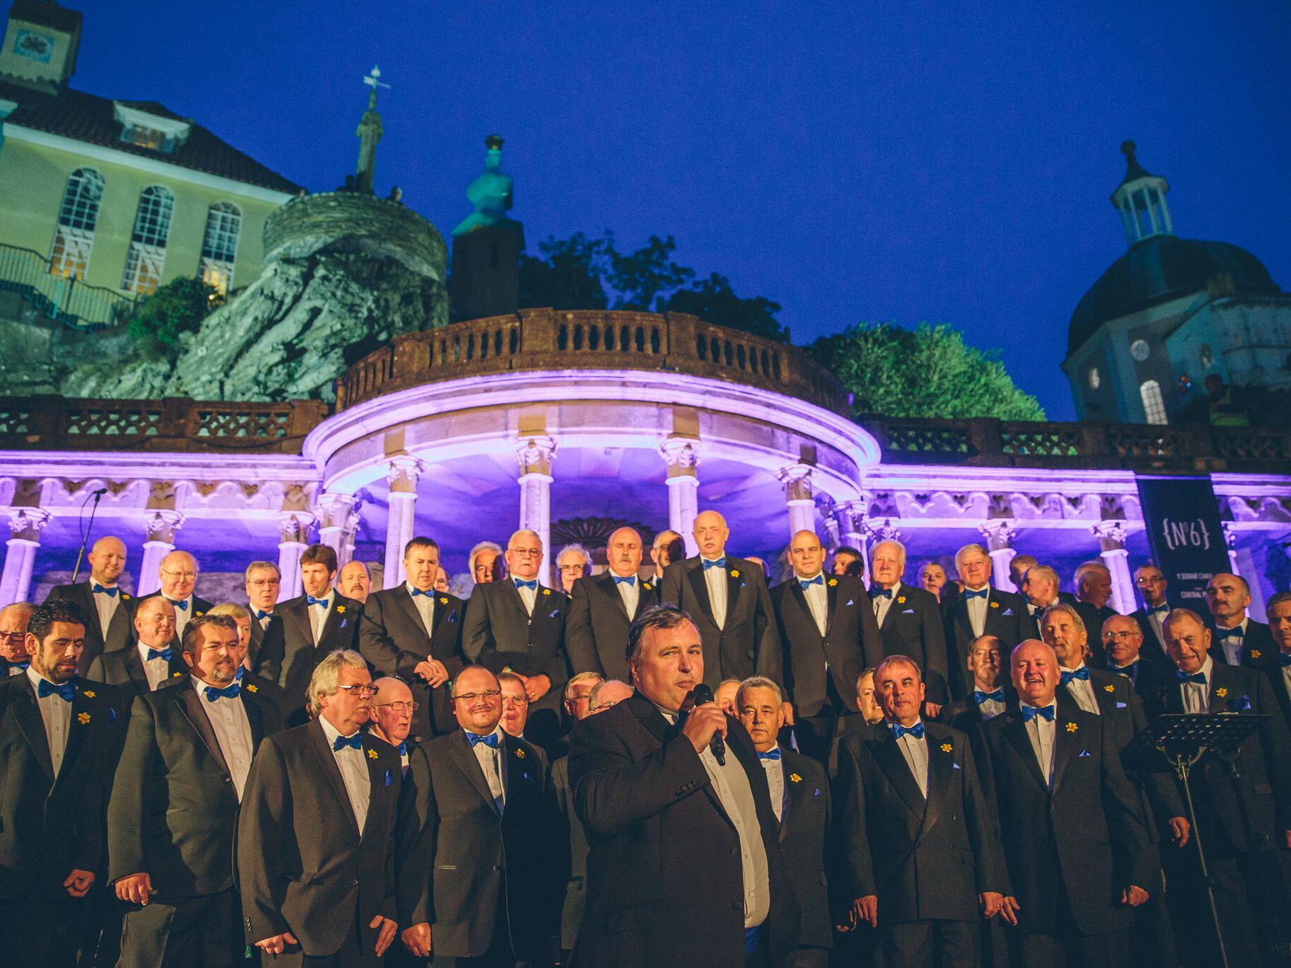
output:
POLYGON ((1278 293, 1255 256, 1238 245, 1154 235, 1112 263, 1075 305, 1068 329, 1070 356, 1108 320, 1205 292, 1215 276, 1232 276, 1237 293, 1278 293))

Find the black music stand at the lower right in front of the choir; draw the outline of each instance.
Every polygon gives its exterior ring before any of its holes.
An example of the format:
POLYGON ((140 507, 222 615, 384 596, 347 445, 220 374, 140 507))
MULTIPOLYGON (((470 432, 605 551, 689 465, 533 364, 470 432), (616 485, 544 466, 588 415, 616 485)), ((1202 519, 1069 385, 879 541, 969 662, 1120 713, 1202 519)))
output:
MULTIPOLYGON (((1193 808, 1193 790, 1188 782, 1193 767, 1207 752, 1224 756, 1241 746, 1246 738, 1268 719, 1264 714, 1238 715, 1235 712, 1216 712, 1189 715, 1183 712, 1163 712, 1140 733, 1131 746, 1140 750, 1157 750, 1174 768, 1184 783, 1184 798, 1188 800, 1188 822, 1197 844, 1197 860, 1202 867, 1202 882, 1206 884, 1206 898, 1210 901, 1211 920, 1215 923, 1215 941, 1219 943, 1219 959, 1228 968, 1228 953, 1224 950, 1224 932, 1219 924, 1219 907, 1215 903, 1215 885, 1210 867, 1206 865, 1206 851, 1202 848, 1201 832, 1197 830, 1197 811, 1193 808)), ((1127 750, 1128 752, 1128 750, 1127 750)))

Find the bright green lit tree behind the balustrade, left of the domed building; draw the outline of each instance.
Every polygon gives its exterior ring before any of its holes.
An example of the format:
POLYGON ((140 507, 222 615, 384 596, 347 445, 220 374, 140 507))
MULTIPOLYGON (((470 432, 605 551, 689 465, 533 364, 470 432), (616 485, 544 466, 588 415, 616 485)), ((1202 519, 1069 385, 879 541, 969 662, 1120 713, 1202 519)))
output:
POLYGON ((855 414, 1044 419, 993 351, 967 346, 946 325, 862 324, 821 337, 811 350, 852 394, 855 414))

